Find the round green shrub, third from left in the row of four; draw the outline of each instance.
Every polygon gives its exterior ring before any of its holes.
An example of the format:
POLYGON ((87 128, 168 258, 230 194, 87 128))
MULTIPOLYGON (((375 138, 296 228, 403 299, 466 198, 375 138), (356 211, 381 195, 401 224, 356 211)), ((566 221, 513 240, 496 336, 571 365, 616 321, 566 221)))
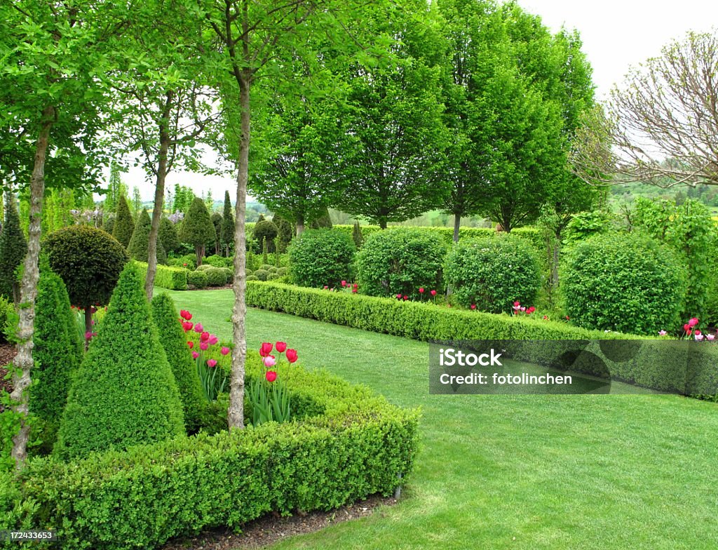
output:
POLYGON ((511 312, 516 300, 533 305, 541 288, 536 251, 505 234, 452 246, 444 276, 459 304, 490 313, 511 312))

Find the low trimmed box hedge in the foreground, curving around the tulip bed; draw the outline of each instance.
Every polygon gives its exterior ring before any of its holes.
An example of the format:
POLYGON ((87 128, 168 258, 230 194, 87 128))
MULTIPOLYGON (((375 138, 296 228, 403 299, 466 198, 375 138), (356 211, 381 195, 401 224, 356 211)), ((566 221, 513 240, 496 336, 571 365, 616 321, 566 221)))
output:
MULTIPOLYGON (((247 368, 260 376, 256 353, 247 368)), ((414 463, 419 412, 296 365, 279 376, 290 390, 312 393, 324 414, 72 462, 29 460, 19 477, 0 475, 0 529, 57 530, 57 543, 40 548, 154 548, 205 528, 238 529, 270 511, 391 494, 414 463)))

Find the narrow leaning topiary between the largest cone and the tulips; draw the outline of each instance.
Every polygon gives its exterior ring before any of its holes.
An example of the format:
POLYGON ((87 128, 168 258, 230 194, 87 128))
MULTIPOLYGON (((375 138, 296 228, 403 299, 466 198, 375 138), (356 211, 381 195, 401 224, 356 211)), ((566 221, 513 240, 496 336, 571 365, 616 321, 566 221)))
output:
POLYGON ((174 309, 174 302, 167 294, 155 296, 151 306, 154 326, 162 335, 162 347, 167 353, 169 366, 172 367, 174 380, 180 390, 187 431, 196 432, 200 428, 200 419, 207 408, 207 401, 202 393, 195 362, 190 355, 190 349, 187 348, 187 338, 182 331, 182 325, 177 321, 177 309, 174 309))

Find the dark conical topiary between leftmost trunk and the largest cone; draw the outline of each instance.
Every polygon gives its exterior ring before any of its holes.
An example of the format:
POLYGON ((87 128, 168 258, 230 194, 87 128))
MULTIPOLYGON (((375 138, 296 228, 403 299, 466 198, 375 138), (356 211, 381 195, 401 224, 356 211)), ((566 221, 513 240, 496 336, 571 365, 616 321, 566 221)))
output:
POLYGON ((49 452, 67 402, 70 376, 80 366, 83 343, 65 283, 47 261, 40 267, 32 343, 32 378, 36 383, 29 393, 29 410, 40 420, 35 434, 49 452))

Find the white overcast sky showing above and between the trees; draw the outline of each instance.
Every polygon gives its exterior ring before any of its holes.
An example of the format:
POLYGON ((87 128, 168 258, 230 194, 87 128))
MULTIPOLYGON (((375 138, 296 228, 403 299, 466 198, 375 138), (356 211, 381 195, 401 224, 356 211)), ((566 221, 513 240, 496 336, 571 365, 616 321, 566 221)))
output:
MULTIPOLYGON (((605 98, 614 84, 620 84, 631 66, 661 54, 661 47, 686 32, 708 32, 718 25, 718 2, 679 0, 658 4, 648 0, 518 0, 526 11, 538 14, 556 32, 564 25, 577 29, 583 50, 593 67, 597 97, 605 98)), ((143 200, 154 197, 154 183, 146 182, 141 169, 122 175, 132 192, 138 186, 143 200)), ((195 195, 212 190, 223 198, 225 190, 233 197, 233 177, 205 177, 174 172, 167 185, 180 183, 192 187, 195 195)))

